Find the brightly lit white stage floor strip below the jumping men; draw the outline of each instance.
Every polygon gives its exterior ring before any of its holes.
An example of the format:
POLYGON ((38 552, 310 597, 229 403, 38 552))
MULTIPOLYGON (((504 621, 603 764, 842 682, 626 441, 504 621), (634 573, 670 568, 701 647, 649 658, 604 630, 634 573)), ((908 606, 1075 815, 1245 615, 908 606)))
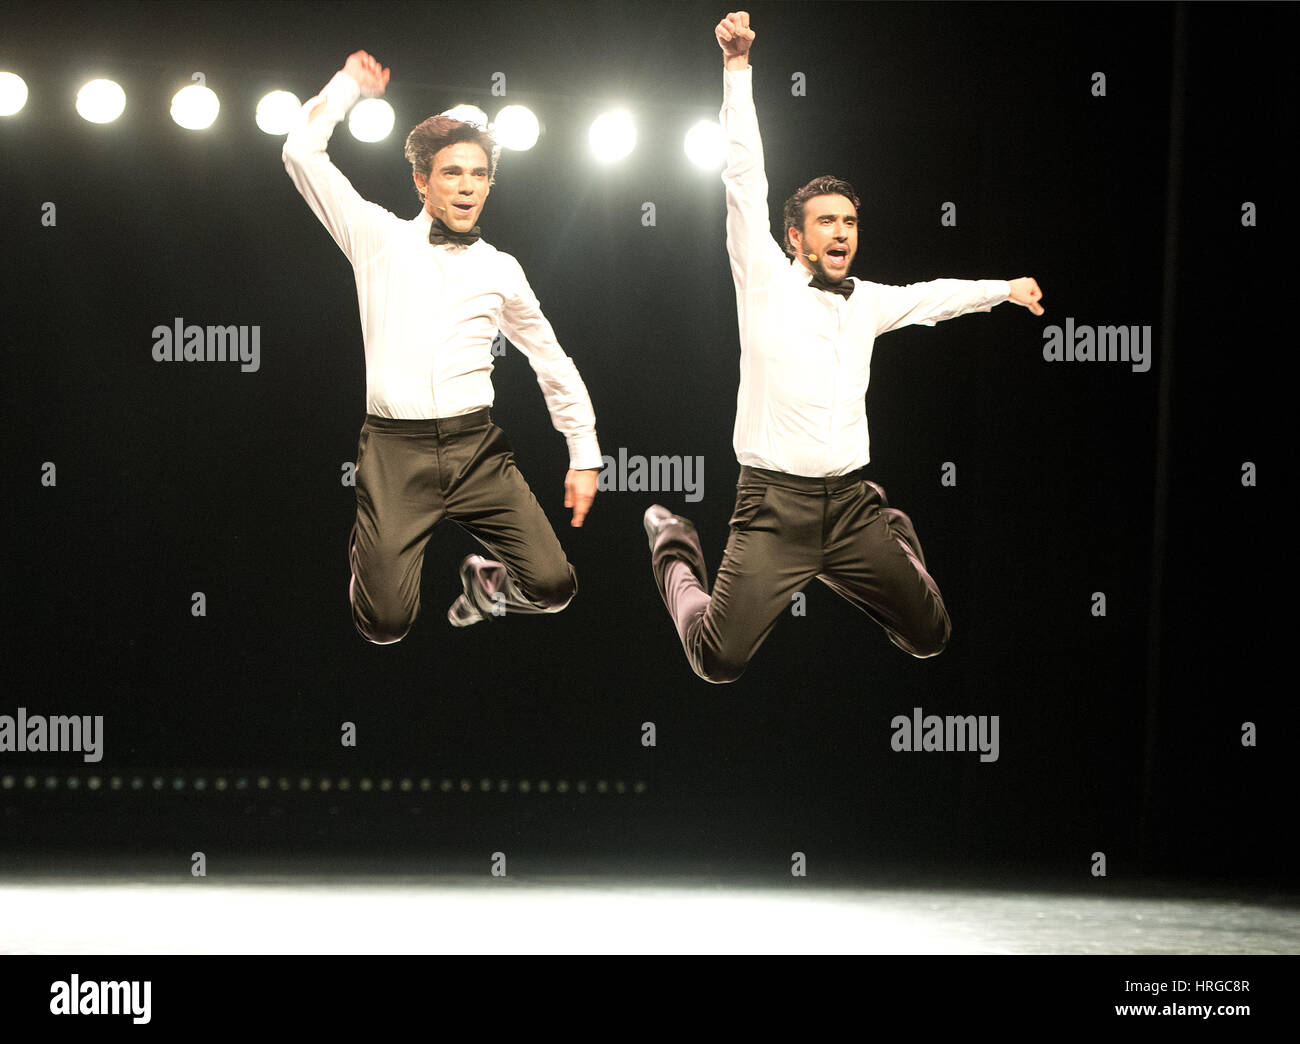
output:
POLYGON ((0 953, 1300 953, 1295 905, 608 881, 0 883, 0 953))

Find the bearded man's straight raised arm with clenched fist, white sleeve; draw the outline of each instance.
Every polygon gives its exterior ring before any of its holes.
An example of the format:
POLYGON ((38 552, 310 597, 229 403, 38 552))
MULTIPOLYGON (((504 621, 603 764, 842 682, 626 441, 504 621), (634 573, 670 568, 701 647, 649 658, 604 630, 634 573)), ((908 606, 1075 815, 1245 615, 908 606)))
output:
POLYGON ((774 265, 785 254, 772 239, 767 215, 767 174, 763 170, 763 142, 754 109, 753 74, 749 48, 754 30, 749 14, 733 12, 714 29, 723 49, 723 108, 719 116, 727 135, 727 254, 737 291, 754 290, 768 280, 774 265))

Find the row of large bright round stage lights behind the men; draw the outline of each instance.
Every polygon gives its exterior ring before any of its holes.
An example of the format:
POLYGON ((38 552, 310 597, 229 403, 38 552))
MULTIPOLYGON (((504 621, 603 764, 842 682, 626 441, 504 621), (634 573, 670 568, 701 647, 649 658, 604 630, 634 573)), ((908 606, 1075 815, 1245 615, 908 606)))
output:
MULTIPOLYGON (((199 77, 200 74, 195 74, 199 77)), ((0 116, 13 116, 27 104, 27 85, 16 73, 0 73, 0 116)), ((257 103, 256 124, 266 134, 289 134, 303 103, 289 91, 272 91, 257 103)), ((112 79, 92 79, 77 92, 77 112, 91 124, 112 124, 126 111, 126 91, 112 79)), ((217 118, 221 101, 204 83, 182 87, 172 99, 172 120, 186 130, 207 130, 217 118)), ((455 105, 443 116, 477 124, 491 130, 502 148, 519 152, 532 148, 541 137, 541 124, 526 105, 506 105, 489 122, 477 105, 455 105)), ((393 133, 396 113, 382 98, 368 98, 352 107, 347 127, 359 142, 382 142, 393 133)), ((588 133, 592 155, 614 163, 629 156, 637 146, 637 126, 625 111, 606 112, 592 121, 588 133)), ((722 127, 703 120, 686 131, 682 148, 686 157, 710 170, 723 166, 727 147, 722 127)))

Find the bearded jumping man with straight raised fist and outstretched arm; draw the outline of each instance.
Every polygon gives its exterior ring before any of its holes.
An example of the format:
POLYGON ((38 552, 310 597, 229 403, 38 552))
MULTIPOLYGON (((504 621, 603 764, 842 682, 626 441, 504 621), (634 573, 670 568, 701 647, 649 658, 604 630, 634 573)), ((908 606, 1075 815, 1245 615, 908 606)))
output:
POLYGON ((646 511, 651 566, 686 659, 707 681, 744 673, 792 595, 816 577, 914 657, 952 633, 911 521, 862 473, 870 462, 866 394, 875 338, 1013 300, 1043 315, 1031 278, 884 286, 849 277, 858 198, 816 178, 785 203, 772 239, 754 111, 749 14, 715 29, 723 49, 727 252, 740 320, 740 460, 731 536, 712 594, 694 525, 646 511))

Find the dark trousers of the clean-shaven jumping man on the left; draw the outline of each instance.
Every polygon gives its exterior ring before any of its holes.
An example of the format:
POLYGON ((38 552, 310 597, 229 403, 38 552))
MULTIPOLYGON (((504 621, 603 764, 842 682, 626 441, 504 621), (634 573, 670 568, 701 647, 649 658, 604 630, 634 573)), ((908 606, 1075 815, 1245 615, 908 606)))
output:
POLYGON ((488 564, 500 575, 467 592, 485 615, 558 612, 577 592, 546 512, 488 410, 443 420, 367 415, 348 545, 352 619, 367 640, 395 642, 411 629, 424 549, 443 519, 499 559, 488 564))

